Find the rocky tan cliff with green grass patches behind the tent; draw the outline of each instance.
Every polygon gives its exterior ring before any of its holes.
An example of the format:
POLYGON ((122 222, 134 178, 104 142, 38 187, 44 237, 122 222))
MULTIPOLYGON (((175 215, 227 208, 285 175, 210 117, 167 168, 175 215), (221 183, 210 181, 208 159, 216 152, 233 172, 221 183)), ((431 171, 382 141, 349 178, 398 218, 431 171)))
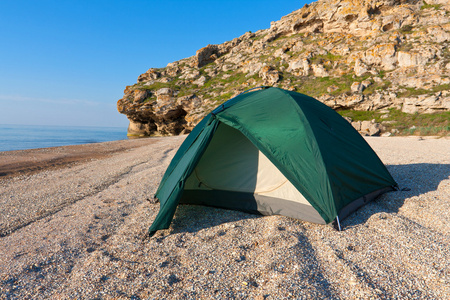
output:
POLYGON ((448 0, 319 0, 269 29, 165 68, 151 68, 117 102, 129 135, 189 132, 218 104, 277 86, 333 109, 450 110, 448 0))

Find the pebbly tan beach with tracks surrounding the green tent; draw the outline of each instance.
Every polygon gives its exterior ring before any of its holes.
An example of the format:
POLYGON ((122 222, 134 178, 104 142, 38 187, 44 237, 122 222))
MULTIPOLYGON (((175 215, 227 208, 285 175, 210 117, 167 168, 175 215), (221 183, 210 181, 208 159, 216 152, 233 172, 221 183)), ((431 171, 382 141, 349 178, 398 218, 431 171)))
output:
POLYGON ((403 191, 343 231, 179 206, 146 238, 184 136, 0 153, 0 299, 450 299, 450 139, 366 138, 403 191))

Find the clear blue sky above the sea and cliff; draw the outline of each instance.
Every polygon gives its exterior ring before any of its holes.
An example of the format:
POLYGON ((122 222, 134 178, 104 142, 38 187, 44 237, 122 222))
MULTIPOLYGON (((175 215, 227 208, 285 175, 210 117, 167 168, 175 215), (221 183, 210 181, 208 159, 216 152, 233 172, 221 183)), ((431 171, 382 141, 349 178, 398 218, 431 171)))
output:
POLYGON ((126 127, 116 102, 141 73, 307 2, 0 0, 0 124, 126 127))

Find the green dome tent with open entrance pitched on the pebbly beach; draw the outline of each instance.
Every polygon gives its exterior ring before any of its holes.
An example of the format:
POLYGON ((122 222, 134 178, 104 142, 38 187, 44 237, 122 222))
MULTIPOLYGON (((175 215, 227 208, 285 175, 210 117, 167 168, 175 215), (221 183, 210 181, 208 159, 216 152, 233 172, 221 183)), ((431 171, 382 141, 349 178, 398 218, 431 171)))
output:
POLYGON ((179 203, 327 224, 397 186, 361 135, 321 102, 279 88, 248 91, 186 137, 155 194, 150 235, 179 203))

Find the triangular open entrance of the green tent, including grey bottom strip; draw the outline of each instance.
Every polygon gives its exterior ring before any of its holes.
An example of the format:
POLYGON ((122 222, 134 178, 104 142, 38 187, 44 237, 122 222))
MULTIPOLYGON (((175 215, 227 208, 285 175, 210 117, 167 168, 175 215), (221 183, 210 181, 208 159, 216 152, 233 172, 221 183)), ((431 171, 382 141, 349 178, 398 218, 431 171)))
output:
POLYGON ((181 203, 325 224, 303 195, 240 131, 221 123, 186 180, 181 203))

